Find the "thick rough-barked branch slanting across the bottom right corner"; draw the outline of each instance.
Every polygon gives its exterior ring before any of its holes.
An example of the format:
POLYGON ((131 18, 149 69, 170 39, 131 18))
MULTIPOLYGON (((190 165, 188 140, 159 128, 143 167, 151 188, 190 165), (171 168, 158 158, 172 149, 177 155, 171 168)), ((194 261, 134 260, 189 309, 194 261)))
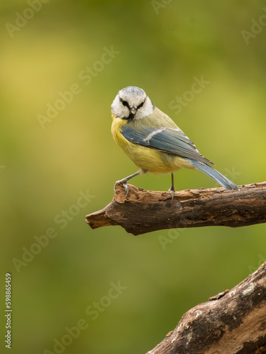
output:
POLYGON ((182 316, 147 354, 266 353, 266 262, 233 287, 182 316))

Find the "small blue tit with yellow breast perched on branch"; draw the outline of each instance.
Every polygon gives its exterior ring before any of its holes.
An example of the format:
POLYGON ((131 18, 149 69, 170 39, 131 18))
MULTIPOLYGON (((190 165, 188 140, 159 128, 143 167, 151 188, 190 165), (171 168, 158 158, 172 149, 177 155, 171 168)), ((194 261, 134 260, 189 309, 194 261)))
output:
POLYGON ((113 139, 138 167, 138 171, 116 181, 123 184, 128 195, 127 182, 138 175, 171 173, 169 188, 174 198, 174 172, 179 169, 197 169, 218 182, 227 190, 238 186, 216 171, 209 159, 202 156, 195 144, 182 132, 175 122, 155 107, 143 89, 127 86, 118 91, 111 104, 111 133, 113 139))

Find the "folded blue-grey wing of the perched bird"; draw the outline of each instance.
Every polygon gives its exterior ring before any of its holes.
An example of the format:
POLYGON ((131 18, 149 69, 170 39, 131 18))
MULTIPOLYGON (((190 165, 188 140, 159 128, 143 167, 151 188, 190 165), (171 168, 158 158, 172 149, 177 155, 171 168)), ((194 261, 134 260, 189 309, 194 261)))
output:
POLYGON ((193 142, 189 140, 182 130, 167 127, 143 127, 141 131, 136 131, 128 125, 124 125, 121 134, 129 142, 133 142, 134 144, 157 149, 172 155, 182 156, 187 159, 193 159, 203 162, 204 164, 214 165, 211 161, 199 154, 193 142))

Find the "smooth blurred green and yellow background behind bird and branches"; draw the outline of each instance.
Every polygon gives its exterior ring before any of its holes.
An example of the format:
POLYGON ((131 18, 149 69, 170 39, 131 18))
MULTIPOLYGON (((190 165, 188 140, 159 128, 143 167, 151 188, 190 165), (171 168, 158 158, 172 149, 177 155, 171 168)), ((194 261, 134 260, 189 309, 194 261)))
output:
MULTIPOLYGON (((6 272, 13 353, 135 354, 152 349, 189 308, 230 289, 265 260, 263 224, 132 236, 84 222, 111 200, 115 181, 136 171, 110 132, 110 105, 128 85, 145 89, 232 181, 265 181, 266 28, 254 27, 248 40, 241 32, 266 14, 263 6, 1 2, 1 348, 6 272), (31 3, 41 6, 32 18, 31 3), (23 13, 26 24, 18 20, 23 13), (116 51, 108 64, 99 63, 104 47, 116 51), (94 67, 87 81, 80 77, 86 67, 94 67), (195 76, 209 84, 176 114, 170 102, 192 88, 195 76), (54 106, 73 84, 79 93, 42 127, 37 116, 47 116, 47 104, 54 106), (89 197, 77 207, 82 192, 89 197), (63 217, 64 210, 72 217, 63 217), (57 236, 15 266, 36 244, 34 236, 49 228, 57 236), (123 291, 109 300, 111 282, 123 291), (106 306, 96 319, 86 312, 94 302, 106 306), (65 336, 80 319, 87 329, 65 336), (54 348, 62 337, 65 349, 54 348)), ((216 186, 198 171, 179 171, 175 181, 180 190, 216 186)), ((133 184, 167 190, 170 176, 140 176, 133 184)))

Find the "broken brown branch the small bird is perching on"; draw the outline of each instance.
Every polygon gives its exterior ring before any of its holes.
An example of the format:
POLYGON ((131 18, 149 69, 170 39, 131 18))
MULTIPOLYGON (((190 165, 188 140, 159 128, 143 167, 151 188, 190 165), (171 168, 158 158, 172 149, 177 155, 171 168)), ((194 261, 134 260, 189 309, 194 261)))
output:
POLYGON ((122 185, 104 209, 87 215, 92 229, 121 225, 134 235, 178 227, 241 227, 266 222, 266 182, 224 188, 180 190, 170 193, 122 185))

